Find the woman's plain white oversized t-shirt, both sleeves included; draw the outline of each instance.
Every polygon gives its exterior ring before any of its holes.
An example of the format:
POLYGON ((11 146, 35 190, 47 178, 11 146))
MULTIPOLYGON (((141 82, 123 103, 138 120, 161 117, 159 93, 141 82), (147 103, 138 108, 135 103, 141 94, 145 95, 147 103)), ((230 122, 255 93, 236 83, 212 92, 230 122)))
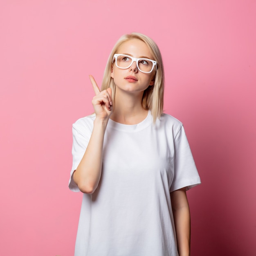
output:
MULTIPOLYGON (((95 114, 73 124, 72 174, 88 145, 95 114)), ((99 186, 83 194, 75 256, 177 256, 170 192, 200 184, 180 121, 108 121, 99 186)))

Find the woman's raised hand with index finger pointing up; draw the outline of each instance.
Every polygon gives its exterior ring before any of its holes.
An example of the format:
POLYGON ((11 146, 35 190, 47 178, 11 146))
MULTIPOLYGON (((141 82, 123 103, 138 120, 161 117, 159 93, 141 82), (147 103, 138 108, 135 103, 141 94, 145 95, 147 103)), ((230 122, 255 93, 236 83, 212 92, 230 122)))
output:
POLYGON ((92 99, 92 105, 96 118, 109 119, 112 114, 112 90, 111 88, 108 88, 101 92, 94 77, 92 75, 89 75, 89 77, 95 92, 95 96, 92 99))

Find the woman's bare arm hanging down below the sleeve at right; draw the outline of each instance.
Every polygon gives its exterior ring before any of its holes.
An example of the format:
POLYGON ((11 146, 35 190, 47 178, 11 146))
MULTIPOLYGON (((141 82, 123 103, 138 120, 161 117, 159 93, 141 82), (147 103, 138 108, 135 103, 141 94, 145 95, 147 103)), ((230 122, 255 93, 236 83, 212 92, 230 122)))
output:
POLYGON ((171 192, 179 256, 190 255, 190 211, 186 188, 171 192))

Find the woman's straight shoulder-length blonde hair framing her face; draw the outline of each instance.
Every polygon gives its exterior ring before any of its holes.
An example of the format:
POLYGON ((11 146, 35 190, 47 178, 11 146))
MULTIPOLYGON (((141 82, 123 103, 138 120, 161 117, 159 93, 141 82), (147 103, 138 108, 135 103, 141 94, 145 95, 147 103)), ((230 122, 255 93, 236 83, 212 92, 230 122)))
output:
POLYGON ((139 39, 144 43, 146 43, 151 54, 153 55, 154 60, 157 61, 157 70, 155 72, 154 84, 152 86, 148 86, 148 88, 144 91, 144 94, 142 97, 142 106, 144 109, 146 110, 149 109, 151 111, 151 114, 153 116, 153 121, 155 123, 156 119, 160 118, 160 116, 163 113, 164 67, 163 67, 162 56, 158 46, 148 36, 145 36, 140 33, 131 33, 131 34, 126 34, 124 36, 121 36, 121 38, 119 38, 119 40, 113 47, 108 57, 108 62, 103 75, 101 90, 106 90, 107 88, 110 87, 112 89, 112 96, 113 96, 112 99, 113 101, 115 100, 115 83, 114 83, 114 79, 111 77, 113 56, 114 54, 117 53, 119 47, 124 42, 127 42, 128 40, 131 40, 131 39, 139 39))

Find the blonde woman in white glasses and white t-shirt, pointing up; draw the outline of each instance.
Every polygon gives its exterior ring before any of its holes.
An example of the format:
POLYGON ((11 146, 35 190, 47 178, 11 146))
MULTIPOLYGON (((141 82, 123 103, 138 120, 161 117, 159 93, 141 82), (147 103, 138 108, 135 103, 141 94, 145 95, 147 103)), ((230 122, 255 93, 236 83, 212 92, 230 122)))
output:
POLYGON ((73 125, 69 187, 82 191, 75 256, 190 254, 186 190, 200 184, 182 123, 163 114, 164 69, 145 35, 122 36, 93 115, 73 125))

